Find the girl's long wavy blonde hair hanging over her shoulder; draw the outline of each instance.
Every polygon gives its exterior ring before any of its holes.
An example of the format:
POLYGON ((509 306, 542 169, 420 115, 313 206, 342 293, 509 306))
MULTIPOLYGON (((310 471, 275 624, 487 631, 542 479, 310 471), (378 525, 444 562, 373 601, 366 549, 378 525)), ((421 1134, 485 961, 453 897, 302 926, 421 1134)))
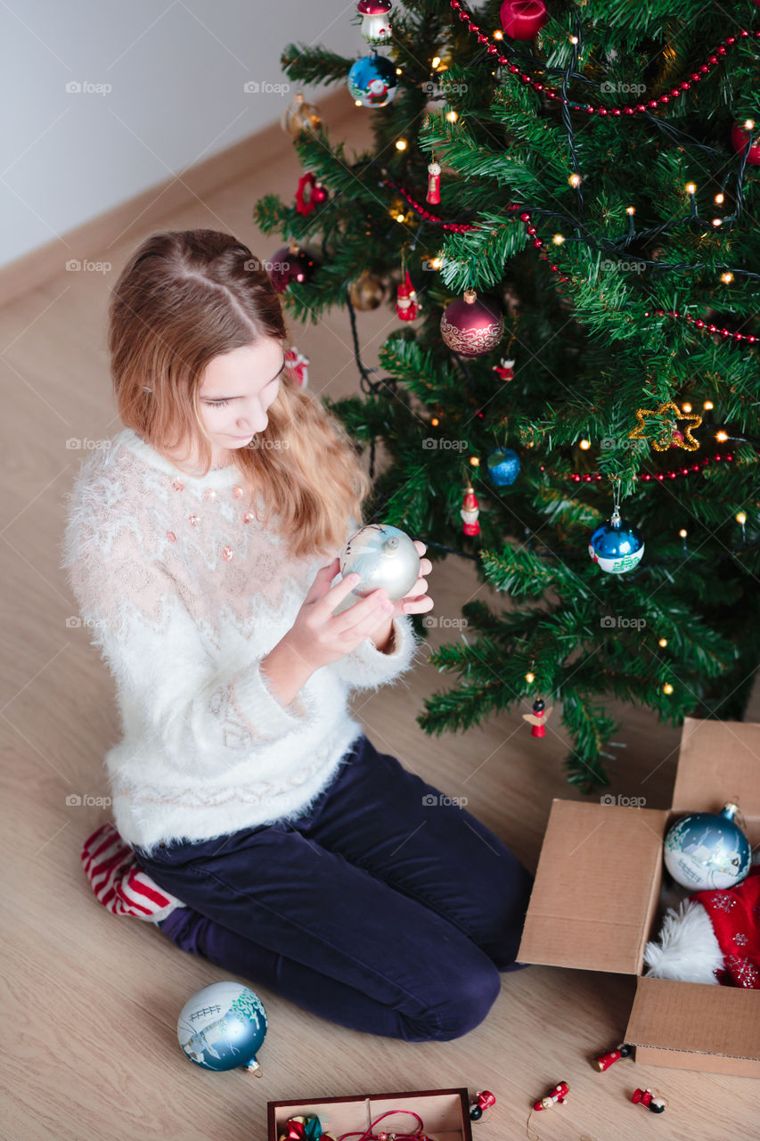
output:
MULTIPOLYGON (((195 439, 205 475, 212 453, 200 411, 203 370, 260 337, 284 348, 289 332, 269 276, 248 246, 213 229, 152 234, 123 267, 108 309, 121 420, 162 454, 195 439)), ((234 452, 250 505, 259 493, 292 556, 334 552, 350 517, 363 523, 370 493, 357 448, 288 370, 268 416, 254 446, 234 452)))

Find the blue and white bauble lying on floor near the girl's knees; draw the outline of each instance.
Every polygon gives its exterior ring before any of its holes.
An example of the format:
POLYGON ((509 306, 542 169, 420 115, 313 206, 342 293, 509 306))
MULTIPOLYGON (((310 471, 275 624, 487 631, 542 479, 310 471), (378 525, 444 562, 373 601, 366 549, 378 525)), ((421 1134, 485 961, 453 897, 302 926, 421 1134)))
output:
POLYGON ((258 1070, 256 1052, 267 1033, 261 1000, 242 982, 212 982, 185 1003, 177 1038, 185 1054, 203 1069, 243 1066, 258 1070))

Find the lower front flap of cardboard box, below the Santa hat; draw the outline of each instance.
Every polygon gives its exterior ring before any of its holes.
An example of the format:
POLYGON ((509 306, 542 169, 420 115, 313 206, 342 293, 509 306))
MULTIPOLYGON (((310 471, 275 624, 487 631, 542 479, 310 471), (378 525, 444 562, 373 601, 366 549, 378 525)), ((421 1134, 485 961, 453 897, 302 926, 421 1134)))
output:
POLYGON ((625 1041, 660 1050, 760 1059, 760 990, 639 978, 625 1041))

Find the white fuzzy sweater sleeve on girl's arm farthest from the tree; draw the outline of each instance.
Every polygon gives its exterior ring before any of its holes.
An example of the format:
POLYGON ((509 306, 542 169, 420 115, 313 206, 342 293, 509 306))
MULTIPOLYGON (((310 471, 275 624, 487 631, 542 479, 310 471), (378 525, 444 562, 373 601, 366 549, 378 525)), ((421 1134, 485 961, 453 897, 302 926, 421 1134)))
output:
POLYGON ((284 706, 244 639, 221 666, 192 596, 127 525, 106 536, 86 502, 70 513, 62 567, 90 641, 114 675, 124 721, 169 766, 215 776, 316 719, 308 682, 284 706))

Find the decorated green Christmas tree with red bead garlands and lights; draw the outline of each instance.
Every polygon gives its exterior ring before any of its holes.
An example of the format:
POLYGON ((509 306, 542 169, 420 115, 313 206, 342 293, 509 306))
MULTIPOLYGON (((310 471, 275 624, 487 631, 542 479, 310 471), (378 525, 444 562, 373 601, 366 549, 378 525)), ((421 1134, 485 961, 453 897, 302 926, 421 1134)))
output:
POLYGON ((299 84, 348 83, 374 148, 349 161, 313 118, 318 193, 254 219, 289 243, 297 318, 348 306, 355 329, 390 284, 388 375, 357 343, 359 391, 326 402, 369 450, 367 518, 503 596, 462 606, 419 723, 527 701, 540 735, 556 705, 588 791, 605 699, 741 719, 758 662, 760 7, 389 8, 359 0, 356 59, 284 49, 299 84))

